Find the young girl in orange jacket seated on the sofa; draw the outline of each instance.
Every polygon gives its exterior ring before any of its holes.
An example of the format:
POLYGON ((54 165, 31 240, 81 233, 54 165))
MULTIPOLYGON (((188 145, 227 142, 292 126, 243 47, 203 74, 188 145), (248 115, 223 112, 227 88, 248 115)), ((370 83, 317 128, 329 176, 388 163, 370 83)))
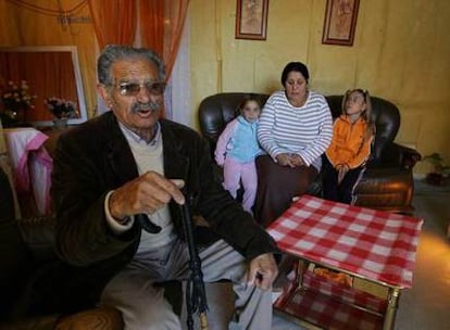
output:
POLYGON ((368 92, 348 90, 342 100, 342 114, 334 123, 332 144, 323 157, 324 199, 352 202, 353 189, 371 155, 374 131, 368 92))

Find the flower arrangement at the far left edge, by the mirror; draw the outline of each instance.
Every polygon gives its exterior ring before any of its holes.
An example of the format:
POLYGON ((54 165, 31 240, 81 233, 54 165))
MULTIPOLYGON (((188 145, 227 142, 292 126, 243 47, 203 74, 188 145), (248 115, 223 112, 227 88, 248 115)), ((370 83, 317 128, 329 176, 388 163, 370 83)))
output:
POLYGON ((30 93, 27 81, 21 80, 17 84, 10 80, 0 88, 2 101, 0 116, 3 125, 9 127, 26 123, 26 113, 35 107, 34 102, 37 98, 30 93))

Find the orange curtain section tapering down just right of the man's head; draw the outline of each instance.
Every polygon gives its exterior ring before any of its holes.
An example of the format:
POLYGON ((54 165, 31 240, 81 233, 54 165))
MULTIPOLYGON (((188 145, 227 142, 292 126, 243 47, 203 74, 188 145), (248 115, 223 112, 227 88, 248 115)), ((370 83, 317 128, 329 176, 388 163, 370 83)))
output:
POLYGON ((139 22, 142 46, 164 60, 166 79, 174 66, 189 0, 140 0, 139 22))

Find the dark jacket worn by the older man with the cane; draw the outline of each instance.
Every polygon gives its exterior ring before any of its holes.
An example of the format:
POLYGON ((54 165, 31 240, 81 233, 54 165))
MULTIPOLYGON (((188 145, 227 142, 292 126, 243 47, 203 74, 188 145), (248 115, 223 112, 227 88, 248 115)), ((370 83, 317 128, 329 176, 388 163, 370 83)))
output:
MULTIPOLYGON (((191 210, 209 223, 212 231, 247 259, 275 252, 272 238, 242 211, 213 175, 209 147, 192 129, 162 119, 164 176, 183 179, 195 198, 191 210)), ((115 236, 107 225, 107 193, 138 177, 128 142, 112 112, 63 134, 55 150, 51 195, 57 210, 57 252, 72 265, 63 287, 76 304, 96 301, 104 284, 135 254, 138 221, 115 236)), ((170 203, 175 230, 183 237, 182 213, 170 203)), ((200 238, 201 239, 201 238, 200 238)))

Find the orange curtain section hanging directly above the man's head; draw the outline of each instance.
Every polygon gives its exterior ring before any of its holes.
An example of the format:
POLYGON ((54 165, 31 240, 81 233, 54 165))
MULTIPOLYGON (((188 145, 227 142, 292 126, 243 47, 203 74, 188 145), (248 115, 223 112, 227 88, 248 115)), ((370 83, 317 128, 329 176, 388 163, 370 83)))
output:
POLYGON ((133 45, 137 22, 136 1, 89 0, 89 11, 100 49, 109 43, 133 45))

